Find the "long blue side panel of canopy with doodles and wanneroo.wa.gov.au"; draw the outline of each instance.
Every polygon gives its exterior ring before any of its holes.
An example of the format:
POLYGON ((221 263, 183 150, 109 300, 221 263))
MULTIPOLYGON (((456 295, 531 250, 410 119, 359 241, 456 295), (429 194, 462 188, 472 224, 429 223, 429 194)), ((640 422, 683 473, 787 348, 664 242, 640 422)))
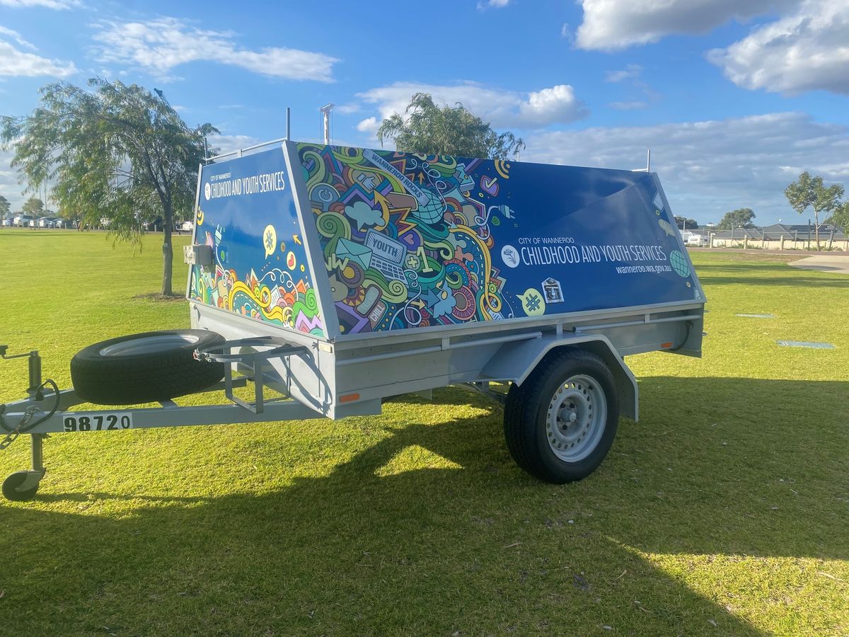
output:
POLYGON ((701 300, 647 173, 297 149, 343 335, 701 300))

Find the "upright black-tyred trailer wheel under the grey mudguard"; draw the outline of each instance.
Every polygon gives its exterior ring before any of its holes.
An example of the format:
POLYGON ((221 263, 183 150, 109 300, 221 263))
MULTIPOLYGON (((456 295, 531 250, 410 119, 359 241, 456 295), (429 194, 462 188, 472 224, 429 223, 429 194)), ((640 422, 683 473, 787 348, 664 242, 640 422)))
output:
POLYGON ((584 350, 543 359, 521 386, 510 387, 504 408, 504 437, 516 464, 555 484, 595 471, 618 424, 613 375, 584 350))

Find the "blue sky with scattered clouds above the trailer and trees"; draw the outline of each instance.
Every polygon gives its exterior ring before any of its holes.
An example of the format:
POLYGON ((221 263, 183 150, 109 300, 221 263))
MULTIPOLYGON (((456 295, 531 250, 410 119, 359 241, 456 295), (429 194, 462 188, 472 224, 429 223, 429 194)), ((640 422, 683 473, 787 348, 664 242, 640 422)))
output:
MULTIPOLYGON (((638 168, 652 149, 676 214, 784 200, 802 170, 849 186, 846 0, 165 3, 0 0, 0 115, 91 76, 158 87, 222 149, 321 135, 376 146, 412 93, 526 140, 522 161, 638 168)), ((0 152, 0 194, 24 200, 0 152)))

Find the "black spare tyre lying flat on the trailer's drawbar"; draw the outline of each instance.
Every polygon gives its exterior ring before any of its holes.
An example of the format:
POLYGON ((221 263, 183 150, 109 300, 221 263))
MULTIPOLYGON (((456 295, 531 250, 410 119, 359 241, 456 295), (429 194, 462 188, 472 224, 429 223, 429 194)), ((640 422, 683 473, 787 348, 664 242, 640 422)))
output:
POLYGON ((194 350, 224 342, 207 330, 166 330, 90 345, 70 360, 76 395, 89 403, 153 403, 200 392, 224 376, 224 364, 199 361, 194 350))

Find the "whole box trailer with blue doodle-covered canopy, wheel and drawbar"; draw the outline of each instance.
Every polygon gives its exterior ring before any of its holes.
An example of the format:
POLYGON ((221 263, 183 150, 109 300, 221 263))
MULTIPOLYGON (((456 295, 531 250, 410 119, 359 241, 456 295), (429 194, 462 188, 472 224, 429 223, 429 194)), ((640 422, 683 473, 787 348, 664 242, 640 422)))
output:
POLYGON ((522 469, 580 480, 638 420, 624 358, 701 354, 704 291, 650 172, 275 140, 200 166, 185 261, 191 329, 86 347, 72 389, 0 347, 30 372, 0 406, 0 449, 32 448, 8 499, 36 494, 48 433, 338 420, 448 385, 503 403, 522 469), (196 392, 229 403, 174 402, 196 392))

